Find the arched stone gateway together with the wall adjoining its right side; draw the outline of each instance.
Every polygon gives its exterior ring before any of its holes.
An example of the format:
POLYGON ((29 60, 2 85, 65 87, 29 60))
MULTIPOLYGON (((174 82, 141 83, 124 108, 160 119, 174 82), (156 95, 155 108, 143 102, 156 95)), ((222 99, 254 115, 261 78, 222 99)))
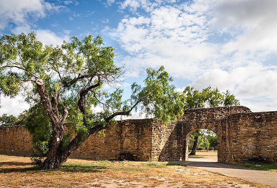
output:
POLYGON ((277 112, 256 112, 243 106, 188 109, 172 126, 159 161, 187 160, 188 135, 207 129, 217 135, 218 162, 277 163, 277 112))

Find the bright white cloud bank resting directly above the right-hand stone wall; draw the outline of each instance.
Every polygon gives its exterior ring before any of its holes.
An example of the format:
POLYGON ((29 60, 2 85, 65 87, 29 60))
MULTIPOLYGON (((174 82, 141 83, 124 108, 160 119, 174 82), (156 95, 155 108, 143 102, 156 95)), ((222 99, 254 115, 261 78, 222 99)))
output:
POLYGON ((277 110, 277 66, 250 63, 230 71, 209 70, 190 84, 197 89, 217 87, 221 92, 230 90, 240 104, 252 111, 277 110))

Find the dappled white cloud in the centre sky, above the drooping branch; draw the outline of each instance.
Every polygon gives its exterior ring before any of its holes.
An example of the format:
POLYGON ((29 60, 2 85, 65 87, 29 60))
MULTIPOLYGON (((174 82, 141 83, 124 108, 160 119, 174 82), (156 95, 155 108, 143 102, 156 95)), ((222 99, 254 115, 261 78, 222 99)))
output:
POLYGON ((160 6, 147 16, 125 17, 117 28, 110 29, 110 35, 130 54, 120 59, 129 72, 134 70, 129 76, 164 65, 171 75, 191 78, 214 66, 217 46, 205 42, 207 18, 190 9, 188 5, 160 6), (202 62, 205 64, 199 66, 202 62))

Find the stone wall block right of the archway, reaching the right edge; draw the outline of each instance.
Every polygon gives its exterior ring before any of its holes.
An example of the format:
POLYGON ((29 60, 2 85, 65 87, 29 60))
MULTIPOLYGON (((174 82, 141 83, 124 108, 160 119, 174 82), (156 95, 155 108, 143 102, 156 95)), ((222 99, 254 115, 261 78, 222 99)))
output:
POLYGON ((232 114, 226 162, 277 163, 277 112, 232 114))

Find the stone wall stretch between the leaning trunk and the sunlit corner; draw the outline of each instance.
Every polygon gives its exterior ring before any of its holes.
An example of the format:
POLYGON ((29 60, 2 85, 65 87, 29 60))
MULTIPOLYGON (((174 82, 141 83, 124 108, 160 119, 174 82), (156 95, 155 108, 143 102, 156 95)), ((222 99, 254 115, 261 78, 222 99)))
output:
POLYGON ((103 135, 90 135, 71 157, 99 159, 133 159, 151 157, 152 120, 124 120, 110 125, 103 135))

